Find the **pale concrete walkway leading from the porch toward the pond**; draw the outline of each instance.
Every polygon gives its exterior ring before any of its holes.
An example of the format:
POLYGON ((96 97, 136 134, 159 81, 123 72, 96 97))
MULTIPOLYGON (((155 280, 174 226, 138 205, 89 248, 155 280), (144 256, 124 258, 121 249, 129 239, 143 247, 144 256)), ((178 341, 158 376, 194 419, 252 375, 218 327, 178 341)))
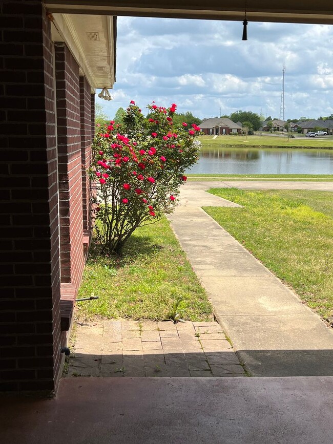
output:
POLYGON ((240 362, 255 376, 333 375, 333 329, 200 208, 231 206, 212 184, 186 184, 170 220, 240 362))

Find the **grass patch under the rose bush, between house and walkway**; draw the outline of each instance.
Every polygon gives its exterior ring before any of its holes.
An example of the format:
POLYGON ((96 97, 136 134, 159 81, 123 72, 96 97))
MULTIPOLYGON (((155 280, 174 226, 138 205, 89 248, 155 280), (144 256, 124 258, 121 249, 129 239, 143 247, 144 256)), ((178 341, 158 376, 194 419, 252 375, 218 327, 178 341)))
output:
POLYGON ((78 319, 94 316, 168 319, 178 298, 184 300, 181 318, 212 320, 212 306, 200 286, 167 219, 138 228, 123 255, 100 256, 93 244, 79 289, 78 319))

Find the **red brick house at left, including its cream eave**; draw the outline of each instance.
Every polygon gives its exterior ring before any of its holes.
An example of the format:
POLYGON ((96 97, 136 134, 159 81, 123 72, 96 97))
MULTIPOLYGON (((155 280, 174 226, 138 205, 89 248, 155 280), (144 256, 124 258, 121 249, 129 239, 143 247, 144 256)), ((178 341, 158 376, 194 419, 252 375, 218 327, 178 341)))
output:
POLYGON ((95 90, 115 80, 116 22, 38 0, 0 9, 0 391, 54 390, 92 231, 95 90))

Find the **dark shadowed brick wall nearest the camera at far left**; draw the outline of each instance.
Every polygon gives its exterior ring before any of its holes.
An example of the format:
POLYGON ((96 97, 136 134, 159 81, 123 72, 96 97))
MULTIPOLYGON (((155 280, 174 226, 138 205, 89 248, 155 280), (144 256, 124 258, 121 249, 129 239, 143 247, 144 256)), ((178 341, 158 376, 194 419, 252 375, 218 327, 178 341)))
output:
POLYGON ((0 390, 60 371, 53 60, 41 1, 0 2, 0 390))

